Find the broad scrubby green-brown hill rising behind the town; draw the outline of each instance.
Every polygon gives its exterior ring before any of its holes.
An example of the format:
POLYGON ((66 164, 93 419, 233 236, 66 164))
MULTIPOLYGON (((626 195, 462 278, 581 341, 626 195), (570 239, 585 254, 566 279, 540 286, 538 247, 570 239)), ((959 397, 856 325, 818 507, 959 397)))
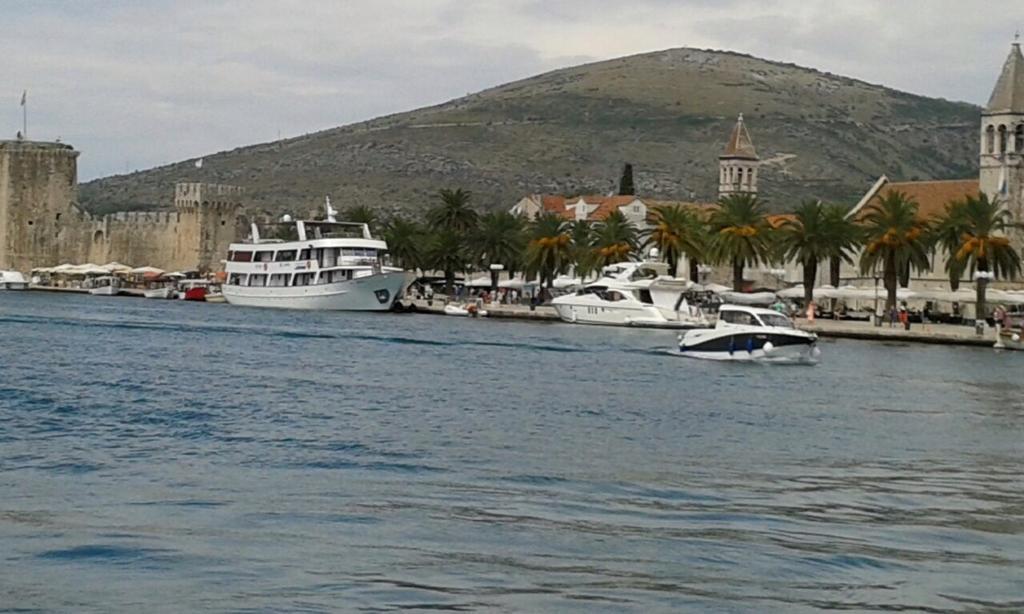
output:
POLYGON ((722 51, 670 49, 554 71, 443 104, 81 186, 92 210, 170 207, 175 181, 246 186, 254 208, 422 211, 441 187, 484 208, 531 192, 601 193, 631 162, 639 194, 715 200, 736 116, 775 210, 855 202, 880 174, 977 175, 980 109, 722 51))

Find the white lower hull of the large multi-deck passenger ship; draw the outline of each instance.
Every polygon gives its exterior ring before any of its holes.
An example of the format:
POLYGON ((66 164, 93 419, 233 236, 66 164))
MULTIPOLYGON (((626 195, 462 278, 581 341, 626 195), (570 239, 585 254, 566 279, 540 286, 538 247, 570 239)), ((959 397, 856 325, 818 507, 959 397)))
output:
POLYGON ((224 299, 244 307, 315 309, 325 311, 387 311, 407 283, 407 274, 383 272, 366 277, 321 283, 263 288, 224 286, 224 299))

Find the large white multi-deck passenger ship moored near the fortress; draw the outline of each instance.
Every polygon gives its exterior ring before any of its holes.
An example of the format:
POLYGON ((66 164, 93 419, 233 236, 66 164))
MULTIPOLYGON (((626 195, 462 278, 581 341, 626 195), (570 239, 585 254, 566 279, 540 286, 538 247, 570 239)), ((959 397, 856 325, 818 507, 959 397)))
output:
POLYGON ((288 220, 264 237, 256 224, 248 243, 231 244, 224 298, 232 305, 385 311, 408 283, 406 271, 384 266, 387 244, 366 224, 338 222, 330 201, 326 221, 288 220))

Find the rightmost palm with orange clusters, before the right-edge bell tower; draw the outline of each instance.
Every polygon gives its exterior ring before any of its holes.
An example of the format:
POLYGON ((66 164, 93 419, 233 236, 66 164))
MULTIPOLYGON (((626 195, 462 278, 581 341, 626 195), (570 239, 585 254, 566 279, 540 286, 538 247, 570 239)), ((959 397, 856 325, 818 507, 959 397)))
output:
MULTIPOLYGON (((1021 259, 1010 245, 1007 231, 1015 224, 1010 212, 997 199, 984 193, 966 196, 946 206, 945 214, 936 224, 938 243, 947 255, 946 270, 950 279, 957 279, 965 270, 991 273, 995 277, 1013 277, 1021 271, 1021 259)), ((988 315, 985 306, 985 279, 975 283, 975 317, 988 315)))

